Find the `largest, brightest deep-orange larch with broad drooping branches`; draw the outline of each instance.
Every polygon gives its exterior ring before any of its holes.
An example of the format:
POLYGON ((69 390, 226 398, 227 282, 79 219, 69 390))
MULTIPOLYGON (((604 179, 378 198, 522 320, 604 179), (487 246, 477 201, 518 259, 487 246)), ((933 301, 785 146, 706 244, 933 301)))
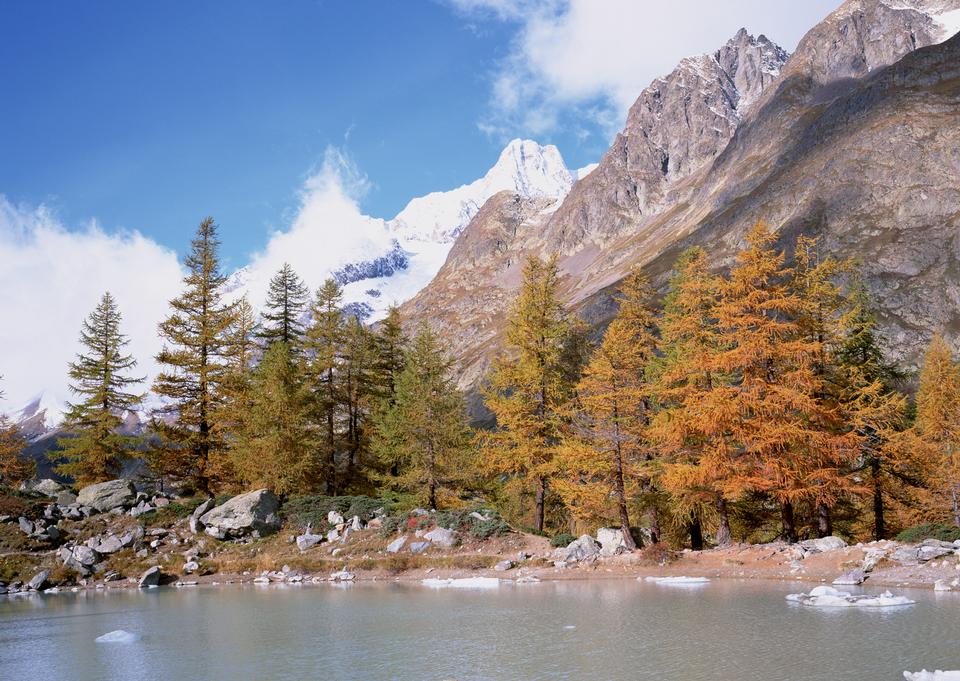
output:
POLYGON ((804 336, 803 301, 789 285, 792 272, 775 250, 775 235, 754 226, 721 287, 717 320, 730 344, 713 367, 734 376, 708 396, 704 419, 726 436, 717 464, 728 496, 766 494, 780 505, 782 536, 797 540, 794 509, 832 505, 851 491, 844 463, 855 454, 835 414, 820 396, 820 344, 804 336))

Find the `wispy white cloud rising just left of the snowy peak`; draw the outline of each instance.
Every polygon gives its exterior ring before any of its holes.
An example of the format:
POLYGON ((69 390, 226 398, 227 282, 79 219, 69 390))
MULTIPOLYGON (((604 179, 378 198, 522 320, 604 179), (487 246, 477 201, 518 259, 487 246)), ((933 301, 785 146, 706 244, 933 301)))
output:
POLYGON ((263 304, 270 277, 285 262, 315 291, 340 267, 387 253, 392 238, 386 223, 364 215, 357 203, 369 188, 344 151, 328 148, 320 170, 304 183, 290 227, 274 232, 245 268, 250 303, 263 304))

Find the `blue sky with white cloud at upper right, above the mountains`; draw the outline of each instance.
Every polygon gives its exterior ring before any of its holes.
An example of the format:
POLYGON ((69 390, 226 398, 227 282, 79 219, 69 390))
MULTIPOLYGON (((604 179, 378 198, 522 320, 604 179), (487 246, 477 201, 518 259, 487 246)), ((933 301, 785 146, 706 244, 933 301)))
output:
MULTIPOLYGON (((597 16, 602 4, 590 5, 597 16)), ((637 23, 636 43, 618 49, 656 47, 657 58, 617 102, 623 75, 605 75, 602 58, 596 87, 534 63, 544 17, 559 26, 556 42, 572 42, 562 20, 575 12, 555 0, 8 2, 0 194, 67 226, 95 218, 181 253, 211 214, 239 266, 290 222, 331 145, 369 180, 363 210, 387 218, 413 196, 475 179, 514 136, 556 143, 582 166, 608 146, 639 83, 679 57, 750 20, 777 24, 771 37, 792 48, 833 3, 770 4, 729 2, 722 25, 693 29, 683 6, 700 23, 696 2, 650 6, 650 25, 637 23), (670 49, 651 45, 653 33, 670 49)), ((573 59, 592 68, 582 56, 573 59)))

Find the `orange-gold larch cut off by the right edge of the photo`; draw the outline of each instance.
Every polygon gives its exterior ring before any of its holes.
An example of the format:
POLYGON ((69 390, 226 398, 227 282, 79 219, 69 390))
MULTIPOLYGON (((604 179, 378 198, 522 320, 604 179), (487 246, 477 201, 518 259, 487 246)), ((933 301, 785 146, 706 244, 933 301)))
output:
POLYGON ((960 368, 940 334, 923 358, 916 399, 915 431, 926 449, 926 477, 935 492, 932 510, 937 514, 947 507, 950 522, 960 527, 960 368))

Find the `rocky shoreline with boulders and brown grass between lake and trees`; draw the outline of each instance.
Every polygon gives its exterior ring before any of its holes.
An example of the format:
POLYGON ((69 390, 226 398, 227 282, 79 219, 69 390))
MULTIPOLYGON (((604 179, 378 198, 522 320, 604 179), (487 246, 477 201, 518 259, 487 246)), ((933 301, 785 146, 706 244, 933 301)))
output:
MULTIPOLYGON (((960 592, 960 541, 839 537, 704 551, 627 551, 600 528, 567 546, 507 531, 492 511, 389 516, 330 510, 316 525, 282 518, 267 490, 183 500, 127 480, 73 494, 41 481, 23 515, 0 514, 0 594, 219 585, 302 585, 497 578, 515 582, 648 576, 769 579, 960 592), (320 527, 322 525, 322 527, 320 527), (450 525, 451 527, 445 527, 450 525), (316 529, 315 529, 316 527, 316 529), (491 528, 496 529, 496 532, 491 528), (19 550, 9 550, 19 547, 19 550)), ((4 511, 17 510, 8 497, 4 511)))

